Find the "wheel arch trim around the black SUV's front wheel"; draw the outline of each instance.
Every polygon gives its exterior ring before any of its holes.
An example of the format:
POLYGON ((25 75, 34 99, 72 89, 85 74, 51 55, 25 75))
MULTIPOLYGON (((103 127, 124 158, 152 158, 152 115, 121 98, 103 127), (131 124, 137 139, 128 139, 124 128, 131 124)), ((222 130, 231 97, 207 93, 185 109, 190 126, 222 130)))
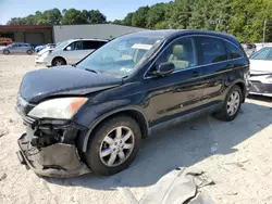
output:
POLYGON ((97 128, 99 128, 99 126, 104 123, 107 119, 110 119, 112 117, 116 117, 120 115, 125 115, 128 117, 132 117, 133 119, 136 120, 136 123, 139 125, 140 131, 141 131, 141 138, 147 138, 147 136, 149 135, 149 126, 148 126, 148 120, 145 116, 145 114, 138 110, 138 109, 134 109, 134 107, 129 107, 129 109, 121 109, 114 112, 110 112, 107 113, 102 116, 100 116, 98 119, 96 119, 96 122, 94 122, 91 124, 91 126, 89 127, 87 133, 84 132, 83 135, 79 135, 77 140, 81 141, 79 143, 77 143, 81 146, 79 148, 79 152, 86 152, 87 151, 87 144, 88 141, 91 137, 91 132, 96 131, 97 128))

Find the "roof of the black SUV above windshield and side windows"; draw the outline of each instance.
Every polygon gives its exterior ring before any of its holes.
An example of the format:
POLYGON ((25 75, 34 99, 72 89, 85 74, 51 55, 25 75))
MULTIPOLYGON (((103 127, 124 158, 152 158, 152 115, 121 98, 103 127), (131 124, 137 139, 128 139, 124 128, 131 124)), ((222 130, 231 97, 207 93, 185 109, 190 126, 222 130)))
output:
POLYGON ((145 31, 138 31, 138 33, 132 33, 128 34, 128 36, 153 36, 153 37, 161 37, 165 39, 180 37, 180 36, 186 36, 186 35, 206 35, 206 36, 212 36, 212 37, 220 37, 223 39, 227 39, 232 42, 239 43, 238 40, 228 34, 220 33, 220 31, 211 31, 211 30, 200 30, 200 29, 160 29, 160 30, 145 30, 145 31))

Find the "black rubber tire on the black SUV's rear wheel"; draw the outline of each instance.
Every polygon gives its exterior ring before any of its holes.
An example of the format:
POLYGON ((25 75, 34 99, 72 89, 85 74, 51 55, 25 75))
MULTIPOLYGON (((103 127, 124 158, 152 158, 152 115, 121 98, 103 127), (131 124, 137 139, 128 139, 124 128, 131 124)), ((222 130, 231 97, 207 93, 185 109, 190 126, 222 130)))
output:
POLYGON ((235 119, 239 113, 242 101, 243 101, 242 90, 238 86, 235 85, 228 91, 222 110, 220 112, 215 113, 214 117, 217 117, 220 120, 224 120, 224 122, 231 122, 231 120, 235 119), (234 97, 234 95, 238 95, 238 99, 237 99, 237 97, 234 97), (231 101, 233 98, 235 98, 236 100, 231 101), (236 109, 234 109, 234 112, 230 111, 230 110, 232 110, 230 103, 236 104, 235 105, 236 109))

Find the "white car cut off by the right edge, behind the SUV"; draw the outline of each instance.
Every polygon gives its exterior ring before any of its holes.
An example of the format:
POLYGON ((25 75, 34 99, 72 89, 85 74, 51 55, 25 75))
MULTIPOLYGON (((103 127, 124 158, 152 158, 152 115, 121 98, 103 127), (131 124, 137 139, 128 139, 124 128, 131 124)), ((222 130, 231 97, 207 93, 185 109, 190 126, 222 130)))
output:
POLYGON ((250 58, 250 93, 272 97, 272 47, 264 47, 250 58))

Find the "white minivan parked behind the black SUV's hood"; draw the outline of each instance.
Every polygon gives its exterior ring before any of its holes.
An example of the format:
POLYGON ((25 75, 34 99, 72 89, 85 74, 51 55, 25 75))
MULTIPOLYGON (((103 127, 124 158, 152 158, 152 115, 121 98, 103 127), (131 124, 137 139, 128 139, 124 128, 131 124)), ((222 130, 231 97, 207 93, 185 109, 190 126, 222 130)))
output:
POLYGON ((60 66, 75 64, 82 59, 106 44, 103 39, 73 39, 61 42, 54 49, 45 49, 36 56, 36 64, 60 66))

